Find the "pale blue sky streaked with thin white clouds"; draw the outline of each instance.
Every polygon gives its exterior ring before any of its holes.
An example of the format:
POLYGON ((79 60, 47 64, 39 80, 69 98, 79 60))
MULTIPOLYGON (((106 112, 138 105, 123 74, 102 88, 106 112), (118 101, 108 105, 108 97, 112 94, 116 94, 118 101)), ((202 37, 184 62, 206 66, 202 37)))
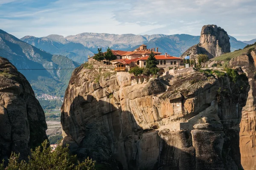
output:
POLYGON ((26 35, 200 35, 215 24, 238 40, 256 38, 256 0, 0 0, 0 29, 26 35))

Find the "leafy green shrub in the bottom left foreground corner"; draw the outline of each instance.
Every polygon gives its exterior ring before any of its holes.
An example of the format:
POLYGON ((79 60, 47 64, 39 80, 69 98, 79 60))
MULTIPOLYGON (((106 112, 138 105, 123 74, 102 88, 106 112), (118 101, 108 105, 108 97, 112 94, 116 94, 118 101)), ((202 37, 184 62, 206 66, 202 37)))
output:
POLYGON ((28 161, 19 161, 19 155, 12 153, 8 166, 4 168, 2 163, 0 170, 95 170, 95 161, 85 159, 80 163, 76 156, 69 155, 67 147, 59 145, 52 151, 45 140, 32 151, 28 161))

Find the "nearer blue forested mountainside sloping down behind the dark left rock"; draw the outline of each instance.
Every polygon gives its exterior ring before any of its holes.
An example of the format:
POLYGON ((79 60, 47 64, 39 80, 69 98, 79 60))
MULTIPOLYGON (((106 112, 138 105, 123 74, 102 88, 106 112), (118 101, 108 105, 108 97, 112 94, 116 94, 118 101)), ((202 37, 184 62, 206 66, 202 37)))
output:
POLYGON ((73 70, 61 68, 79 66, 67 57, 49 54, 3 30, 0 30, 0 56, 9 59, 26 76, 36 94, 63 96, 73 70))

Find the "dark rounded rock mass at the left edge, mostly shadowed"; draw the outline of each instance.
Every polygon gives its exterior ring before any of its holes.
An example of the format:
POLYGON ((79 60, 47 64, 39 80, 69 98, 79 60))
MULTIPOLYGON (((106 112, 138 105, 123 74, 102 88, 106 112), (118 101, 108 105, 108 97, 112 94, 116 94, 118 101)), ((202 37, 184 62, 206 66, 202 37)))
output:
POLYGON ((47 135, 44 111, 26 78, 0 57, 0 160, 11 152, 26 159, 47 135))

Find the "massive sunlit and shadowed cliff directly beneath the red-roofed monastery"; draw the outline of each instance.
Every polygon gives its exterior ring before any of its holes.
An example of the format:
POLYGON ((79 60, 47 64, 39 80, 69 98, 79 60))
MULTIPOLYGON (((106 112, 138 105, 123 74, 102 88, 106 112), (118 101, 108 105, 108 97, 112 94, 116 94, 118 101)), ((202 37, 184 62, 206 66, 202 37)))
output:
POLYGON ((98 75, 76 68, 61 108, 64 145, 80 158, 113 170, 241 168, 244 74, 234 83, 192 70, 139 84, 98 75))

